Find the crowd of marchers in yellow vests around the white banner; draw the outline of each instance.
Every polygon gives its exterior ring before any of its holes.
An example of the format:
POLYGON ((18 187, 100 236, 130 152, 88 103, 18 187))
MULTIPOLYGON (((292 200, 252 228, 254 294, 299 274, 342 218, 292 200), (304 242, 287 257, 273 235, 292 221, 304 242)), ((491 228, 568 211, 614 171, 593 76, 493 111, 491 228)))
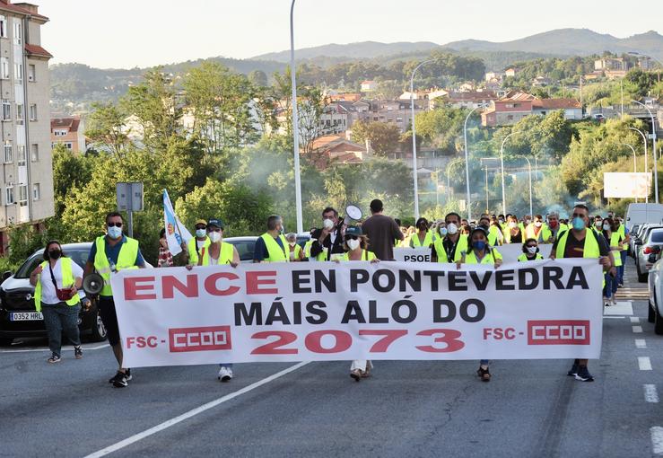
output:
MULTIPOLYGON (((615 292, 624 283, 624 260, 629 234, 620 217, 608 213, 607 217, 591 217, 589 208, 578 204, 572 209, 571 219, 561 219, 557 213, 547 215, 481 215, 478 221, 467 221, 457 213, 432 222, 417 219, 414 226, 404 227, 400 221, 384 215, 379 199, 371 201, 371 216, 362 222, 347 225, 333 207, 322 213, 322 227, 310 230, 310 240, 303 246, 297 234, 284 234, 281 216, 269 216, 266 233, 257 238, 254 262, 301 261, 370 261, 394 260, 395 247, 430 248, 432 262, 463 264, 489 264, 498 269, 502 265, 500 246, 519 243, 522 254, 519 261, 542 260, 539 245, 551 243, 551 259, 595 258, 605 271, 604 304, 615 304, 615 292)), ((103 279, 98 297, 100 317, 108 330, 109 344, 118 362, 117 373, 109 383, 121 388, 131 380, 131 370, 123 366, 122 346, 118 329, 110 276, 121 269, 144 269, 146 263, 138 242, 123 233, 123 218, 118 212, 106 216, 106 233, 92 243, 92 250, 84 269, 65 256, 59 242, 47 243, 44 262, 31 273, 35 286, 35 304, 44 315, 51 350, 49 363, 61 360, 61 334, 74 344, 74 357, 83 357, 76 320, 81 307, 91 306, 83 290, 83 277, 97 272, 103 279), (45 272, 48 271, 48 275, 45 272)), ((219 218, 199 219, 195 236, 183 243, 187 269, 196 266, 240 265, 240 255, 234 245, 223 242, 224 224, 219 218)), ((161 230, 157 267, 173 265, 165 229, 161 230)), ((491 379, 489 361, 481 360, 477 375, 488 382, 491 379)), ((583 382, 593 381, 586 359, 576 359, 568 374, 583 382)), ((350 375, 359 382, 370 376, 372 364, 368 360, 353 361, 350 375)), ((233 377, 232 365, 221 363, 218 378, 229 382, 233 377)))

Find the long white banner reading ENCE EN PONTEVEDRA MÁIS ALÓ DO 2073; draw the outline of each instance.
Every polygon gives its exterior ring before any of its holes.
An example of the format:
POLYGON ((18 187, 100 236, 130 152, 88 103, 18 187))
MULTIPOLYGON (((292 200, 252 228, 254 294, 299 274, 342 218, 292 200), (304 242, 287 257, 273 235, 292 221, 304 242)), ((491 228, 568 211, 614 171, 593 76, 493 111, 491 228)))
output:
POLYGON ((122 270, 125 366, 597 358, 598 260, 320 262, 122 270))

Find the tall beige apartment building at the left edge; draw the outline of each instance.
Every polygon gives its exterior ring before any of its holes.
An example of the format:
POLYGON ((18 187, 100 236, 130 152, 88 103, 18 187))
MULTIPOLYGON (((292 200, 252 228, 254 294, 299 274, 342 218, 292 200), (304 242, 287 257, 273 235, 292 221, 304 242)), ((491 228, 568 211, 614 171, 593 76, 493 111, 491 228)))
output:
POLYGON ((35 4, 0 0, 0 254, 9 226, 54 215, 46 22, 35 4))

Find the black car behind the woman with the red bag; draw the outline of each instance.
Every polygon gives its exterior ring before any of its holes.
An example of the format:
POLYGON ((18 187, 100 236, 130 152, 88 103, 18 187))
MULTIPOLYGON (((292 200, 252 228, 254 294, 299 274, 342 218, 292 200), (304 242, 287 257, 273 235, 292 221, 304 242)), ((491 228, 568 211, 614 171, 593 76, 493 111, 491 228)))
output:
MULTIPOLYGON (((82 268, 91 248, 92 243, 62 245, 65 255, 82 268)), ((43 253, 43 249, 35 251, 13 275, 12 272, 3 275, 4 281, 0 285, 0 345, 9 345, 17 338, 46 337, 43 317, 34 305, 34 286, 30 284, 32 270, 44 261, 43 253)), ((89 311, 82 310, 78 315, 78 326, 82 335, 89 333, 93 341, 106 339, 106 328, 94 300, 89 311)))

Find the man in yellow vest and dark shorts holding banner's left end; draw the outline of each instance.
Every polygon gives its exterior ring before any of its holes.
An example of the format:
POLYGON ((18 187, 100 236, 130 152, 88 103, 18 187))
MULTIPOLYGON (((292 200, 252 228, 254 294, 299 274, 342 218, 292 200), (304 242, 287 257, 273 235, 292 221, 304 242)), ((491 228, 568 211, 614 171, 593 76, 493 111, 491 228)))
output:
POLYGON ((116 388, 126 387, 127 382, 131 380, 131 371, 122 366, 122 346, 119 341, 118 316, 115 313, 110 276, 122 269, 145 267, 138 241, 123 235, 122 226, 122 215, 118 212, 110 212, 106 216, 106 235, 97 237, 92 244, 84 272, 86 276, 96 270, 104 279, 99 297, 99 312, 101 321, 108 331, 110 347, 113 348, 115 359, 118 360, 118 373, 109 380, 109 383, 113 383, 116 388))

